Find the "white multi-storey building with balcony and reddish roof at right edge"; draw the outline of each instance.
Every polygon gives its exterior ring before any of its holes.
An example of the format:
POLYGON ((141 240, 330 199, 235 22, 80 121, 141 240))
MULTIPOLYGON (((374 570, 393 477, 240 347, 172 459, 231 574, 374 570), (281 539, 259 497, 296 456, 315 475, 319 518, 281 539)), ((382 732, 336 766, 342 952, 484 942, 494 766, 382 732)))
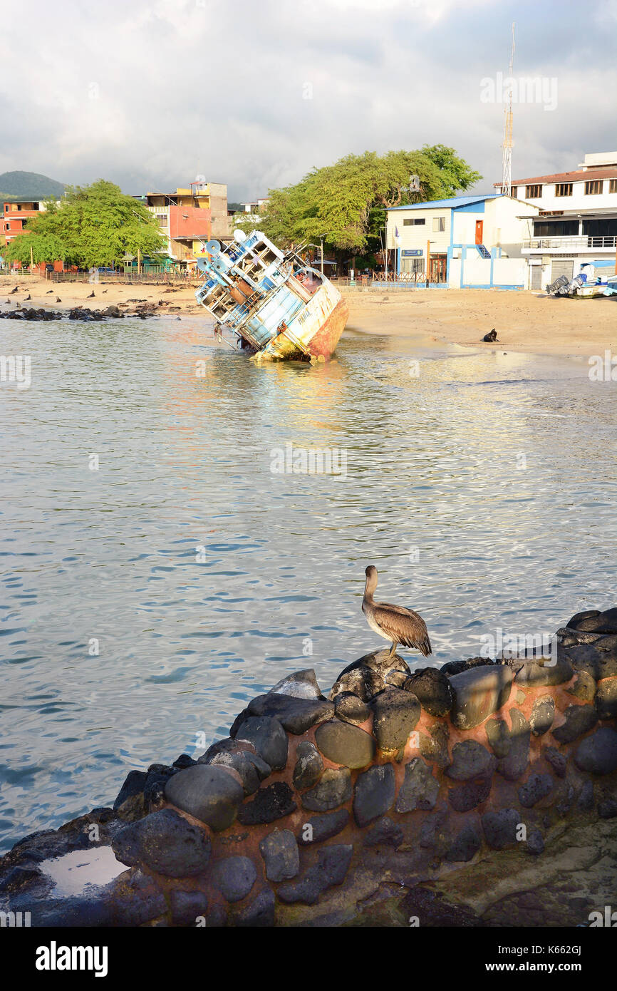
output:
POLYGON ((571 278, 589 263, 596 275, 615 271, 617 152, 585 155, 573 171, 515 179, 512 196, 541 211, 528 214, 533 231, 522 244, 532 289, 558 275, 571 278))

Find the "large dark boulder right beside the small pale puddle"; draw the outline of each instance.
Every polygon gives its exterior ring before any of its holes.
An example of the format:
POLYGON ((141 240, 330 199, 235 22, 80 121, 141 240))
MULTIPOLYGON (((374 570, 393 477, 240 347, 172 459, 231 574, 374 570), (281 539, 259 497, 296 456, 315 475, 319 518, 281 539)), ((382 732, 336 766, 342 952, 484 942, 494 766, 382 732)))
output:
POLYGON ((116 859, 130 867, 146 864, 166 877, 190 877, 206 869, 210 837, 172 809, 161 809, 124 826, 112 838, 116 859))

